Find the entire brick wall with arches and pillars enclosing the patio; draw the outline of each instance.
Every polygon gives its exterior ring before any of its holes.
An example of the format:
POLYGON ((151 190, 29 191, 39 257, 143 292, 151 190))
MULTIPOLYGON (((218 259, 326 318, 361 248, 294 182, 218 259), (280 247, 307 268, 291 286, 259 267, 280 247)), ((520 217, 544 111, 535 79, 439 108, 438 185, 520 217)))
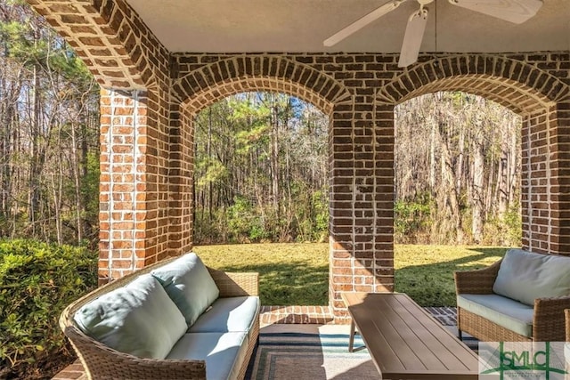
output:
POLYGON ((28 0, 102 91, 102 280, 191 249, 193 117, 244 91, 276 91, 330 117, 330 304, 394 285, 394 107, 465 91, 523 116, 521 242, 570 253, 570 53, 169 54, 124 0, 28 0), (138 117, 134 117, 138 115, 138 117))

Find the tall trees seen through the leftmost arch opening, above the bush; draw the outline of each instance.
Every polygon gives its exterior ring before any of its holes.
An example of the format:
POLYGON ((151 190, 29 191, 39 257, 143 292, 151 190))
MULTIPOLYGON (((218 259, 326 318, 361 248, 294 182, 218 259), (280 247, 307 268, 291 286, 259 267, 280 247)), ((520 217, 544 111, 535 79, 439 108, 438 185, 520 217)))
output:
POLYGON ((0 4, 0 36, 0 235, 94 246, 98 86, 20 1, 0 4))

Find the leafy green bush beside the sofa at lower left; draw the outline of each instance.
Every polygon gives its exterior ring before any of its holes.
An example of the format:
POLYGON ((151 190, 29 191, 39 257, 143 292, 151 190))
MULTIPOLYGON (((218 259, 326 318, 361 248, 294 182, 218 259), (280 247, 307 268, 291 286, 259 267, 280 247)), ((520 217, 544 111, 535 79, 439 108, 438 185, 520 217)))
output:
POLYGON ((85 248, 0 240, 0 378, 29 377, 64 349, 61 311, 96 287, 96 268, 85 248))

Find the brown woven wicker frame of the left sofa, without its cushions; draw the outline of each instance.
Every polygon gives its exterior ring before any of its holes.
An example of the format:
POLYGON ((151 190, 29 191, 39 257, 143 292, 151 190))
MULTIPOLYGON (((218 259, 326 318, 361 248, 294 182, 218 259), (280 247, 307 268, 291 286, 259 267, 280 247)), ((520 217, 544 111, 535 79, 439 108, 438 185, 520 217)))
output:
MULTIPOLYGON (((206 379, 205 360, 154 360, 137 358, 133 355, 118 352, 86 336, 73 321, 73 315, 85 303, 123 287, 134 278, 148 273, 159 266, 170 263, 176 257, 152 264, 140 271, 135 271, 110 284, 95 289, 79 298, 61 313, 60 327, 69 341, 83 367, 88 379, 206 379)), ((258 273, 227 273, 208 268, 212 278, 220 289, 220 297, 259 294, 258 273)), ((259 336, 259 319, 256 319, 248 339, 248 350, 238 379, 243 379, 248 362, 254 352, 259 336)))

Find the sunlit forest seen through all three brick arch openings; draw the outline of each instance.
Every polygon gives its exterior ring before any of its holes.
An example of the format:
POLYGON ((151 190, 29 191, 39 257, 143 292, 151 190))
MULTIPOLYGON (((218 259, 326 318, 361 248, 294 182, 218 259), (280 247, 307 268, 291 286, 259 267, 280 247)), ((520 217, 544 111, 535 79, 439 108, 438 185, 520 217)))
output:
MULTIPOLYGON (((20 1, 0 1, 0 236, 96 249, 99 87, 20 1)), ((519 245, 520 119, 467 93, 395 109, 395 241, 519 245)), ((197 245, 325 241, 328 117, 281 93, 199 113, 197 245)))

